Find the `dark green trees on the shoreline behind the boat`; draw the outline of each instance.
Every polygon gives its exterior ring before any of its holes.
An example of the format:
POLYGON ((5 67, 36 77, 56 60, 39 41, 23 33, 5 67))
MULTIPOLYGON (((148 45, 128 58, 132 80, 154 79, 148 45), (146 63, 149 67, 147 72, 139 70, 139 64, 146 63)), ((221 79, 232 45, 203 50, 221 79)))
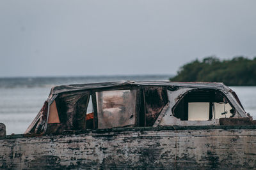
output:
POLYGON ((170 81, 223 82, 228 86, 256 85, 256 57, 234 57, 220 60, 217 57, 196 59, 180 67, 170 81))

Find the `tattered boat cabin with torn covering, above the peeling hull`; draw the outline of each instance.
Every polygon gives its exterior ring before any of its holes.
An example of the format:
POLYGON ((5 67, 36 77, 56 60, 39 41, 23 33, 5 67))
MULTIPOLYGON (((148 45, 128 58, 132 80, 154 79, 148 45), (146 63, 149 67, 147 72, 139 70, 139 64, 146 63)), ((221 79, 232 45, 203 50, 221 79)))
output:
POLYGON ((53 87, 25 134, 117 127, 221 125, 246 118, 223 83, 118 81, 53 87), (224 123, 223 123, 224 122, 224 123))

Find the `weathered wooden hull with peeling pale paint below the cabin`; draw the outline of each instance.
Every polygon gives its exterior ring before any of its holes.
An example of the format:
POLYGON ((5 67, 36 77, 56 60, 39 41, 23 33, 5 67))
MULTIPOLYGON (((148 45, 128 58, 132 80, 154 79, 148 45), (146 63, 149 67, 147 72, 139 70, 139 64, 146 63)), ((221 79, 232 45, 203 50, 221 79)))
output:
POLYGON ((2 169, 255 169, 256 126, 105 129, 0 138, 2 169))

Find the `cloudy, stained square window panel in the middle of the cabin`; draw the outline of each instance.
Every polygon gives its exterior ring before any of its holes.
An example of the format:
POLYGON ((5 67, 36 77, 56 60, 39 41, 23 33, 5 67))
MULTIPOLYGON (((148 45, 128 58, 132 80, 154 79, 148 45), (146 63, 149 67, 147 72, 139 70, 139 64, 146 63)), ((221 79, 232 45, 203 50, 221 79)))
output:
POLYGON ((98 128, 136 124, 136 90, 96 92, 98 128))

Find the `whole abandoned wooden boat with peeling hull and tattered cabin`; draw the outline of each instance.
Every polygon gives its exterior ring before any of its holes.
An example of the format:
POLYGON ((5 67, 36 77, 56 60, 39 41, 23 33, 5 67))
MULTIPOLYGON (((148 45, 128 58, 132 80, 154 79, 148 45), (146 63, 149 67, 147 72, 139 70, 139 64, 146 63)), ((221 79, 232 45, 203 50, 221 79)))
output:
POLYGON ((223 83, 61 85, 24 134, 0 124, 0 168, 255 168, 255 124, 223 83))

